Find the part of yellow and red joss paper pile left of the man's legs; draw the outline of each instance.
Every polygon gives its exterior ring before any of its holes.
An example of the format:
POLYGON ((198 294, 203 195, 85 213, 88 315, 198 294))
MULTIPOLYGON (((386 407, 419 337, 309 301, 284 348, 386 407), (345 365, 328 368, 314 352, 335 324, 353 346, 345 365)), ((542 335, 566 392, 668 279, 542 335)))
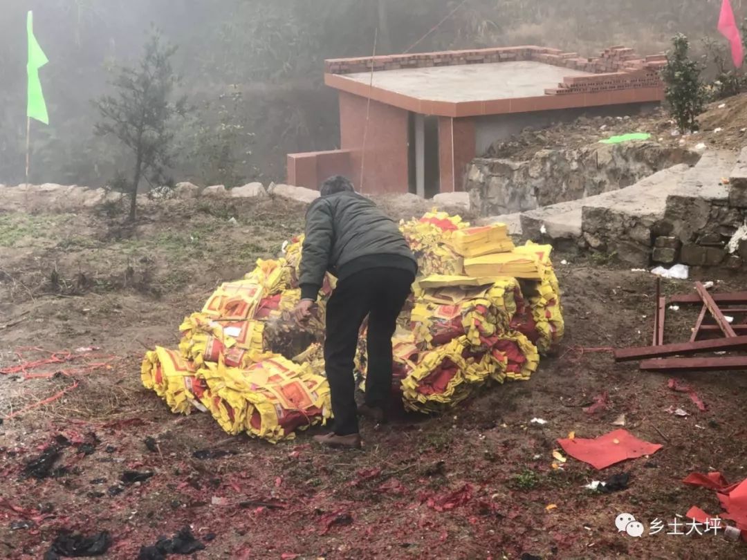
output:
MULTIPOLYGON (((179 350, 147 352, 141 378, 176 413, 210 412, 229 434, 247 432, 276 442, 331 415, 329 384, 312 343, 295 361, 271 352, 268 332, 297 335, 291 311, 300 299, 297 266, 301 240, 290 259, 258 261, 244 279, 222 284, 199 313, 185 318, 179 350)), ((322 332, 326 297, 306 329, 322 332)))

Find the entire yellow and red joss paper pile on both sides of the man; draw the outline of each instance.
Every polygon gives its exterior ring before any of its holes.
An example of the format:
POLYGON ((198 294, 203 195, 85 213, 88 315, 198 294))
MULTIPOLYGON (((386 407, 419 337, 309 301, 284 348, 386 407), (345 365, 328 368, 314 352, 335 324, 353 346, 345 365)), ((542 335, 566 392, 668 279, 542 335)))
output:
MULTIPOLYGON (((505 225, 471 228, 438 212, 400 228, 420 268, 394 337, 394 391, 405 407, 443 411, 489 382, 529 379, 563 334, 551 247, 516 247, 505 225)), ((281 258, 222 284, 185 318, 178 350, 146 354, 143 385, 176 413, 209 412, 230 434, 276 442, 325 423, 323 317, 335 279, 327 275, 314 318, 297 326, 302 243, 294 237, 281 258)), ((366 361, 364 328, 364 382, 366 361)))

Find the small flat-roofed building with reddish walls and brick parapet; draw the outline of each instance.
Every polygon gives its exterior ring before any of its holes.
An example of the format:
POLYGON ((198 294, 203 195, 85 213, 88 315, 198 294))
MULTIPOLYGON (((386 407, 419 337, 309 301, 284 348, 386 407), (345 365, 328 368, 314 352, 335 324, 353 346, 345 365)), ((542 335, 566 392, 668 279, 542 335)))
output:
POLYGON ((463 190, 468 162, 527 126, 661 102, 665 62, 622 46, 598 58, 520 46, 326 60, 341 148, 288 155, 288 184, 339 173, 364 193, 463 190))

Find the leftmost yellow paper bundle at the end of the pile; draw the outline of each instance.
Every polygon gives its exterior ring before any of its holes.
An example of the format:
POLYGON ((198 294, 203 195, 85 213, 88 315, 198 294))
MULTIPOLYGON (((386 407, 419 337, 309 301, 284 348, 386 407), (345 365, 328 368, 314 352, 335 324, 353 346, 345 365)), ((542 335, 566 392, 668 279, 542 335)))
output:
POLYGON ((145 388, 155 391, 176 414, 189 414, 192 408, 202 409, 199 400, 207 386, 197 379, 195 365, 177 350, 156 346, 155 350, 146 352, 140 379, 145 388))

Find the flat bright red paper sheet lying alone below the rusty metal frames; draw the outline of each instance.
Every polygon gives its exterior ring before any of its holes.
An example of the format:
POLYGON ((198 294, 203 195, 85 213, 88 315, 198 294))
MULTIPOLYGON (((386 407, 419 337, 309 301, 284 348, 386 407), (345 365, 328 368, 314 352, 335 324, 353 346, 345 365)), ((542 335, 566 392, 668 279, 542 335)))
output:
POLYGON ((595 439, 558 439, 558 443, 568 455, 592 465, 595 469, 604 469, 620 461, 652 455, 662 447, 639 440, 624 429, 595 439))

